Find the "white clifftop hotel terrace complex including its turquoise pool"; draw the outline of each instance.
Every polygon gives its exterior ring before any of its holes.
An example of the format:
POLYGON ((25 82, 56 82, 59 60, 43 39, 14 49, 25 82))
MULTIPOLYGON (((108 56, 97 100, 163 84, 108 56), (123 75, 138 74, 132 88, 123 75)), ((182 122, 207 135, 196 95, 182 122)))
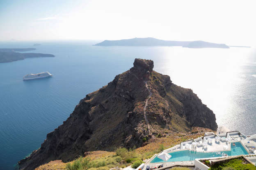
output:
MULTIPOLYGON (((207 166, 201 163, 200 159, 223 159, 237 155, 250 155, 251 163, 256 162, 256 134, 245 136, 241 132, 230 132, 225 127, 219 127, 217 133, 208 132, 204 136, 181 142, 168 148, 159 154, 155 154, 144 163, 142 170, 147 167, 155 168, 163 165, 161 170, 174 166, 194 167, 194 170, 206 170, 207 166), (222 133, 225 132, 225 133, 222 133), (168 160, 159 157, 162 152, 169 154, 168 160)), ((209 168, 209 167, 208 167, 209 168)))

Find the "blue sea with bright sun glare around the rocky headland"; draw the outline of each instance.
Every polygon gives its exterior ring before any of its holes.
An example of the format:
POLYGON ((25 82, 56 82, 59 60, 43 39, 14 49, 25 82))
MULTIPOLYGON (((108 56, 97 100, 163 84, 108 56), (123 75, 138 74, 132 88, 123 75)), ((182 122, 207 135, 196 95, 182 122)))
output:
MULTIPOLYGON (((40 148, 46 134, 73 112, 86 94, 151 59, 154 70, 190 88, 216 115, 217 124, 246 135, 256 133, 256 48, 94 46, 93 40, 0 42, 0 48, 35 47, 54 58, 0 63, 0 170, 40 148), (33 46, 39 43, 39 46, 33 46), (29 73, 53 77, 23 81, 29 73)), ((200 118, 199 118, 200 119, 200 118)))

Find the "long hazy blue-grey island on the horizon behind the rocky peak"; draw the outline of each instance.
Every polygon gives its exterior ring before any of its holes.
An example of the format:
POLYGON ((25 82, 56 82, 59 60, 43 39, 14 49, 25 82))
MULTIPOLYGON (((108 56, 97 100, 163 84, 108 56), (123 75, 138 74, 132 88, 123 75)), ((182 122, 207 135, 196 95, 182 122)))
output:
POLYGON ((156 38, 132 38, 124 40, 104 40, 96 46, 181 46, 187 48, 229 48, 226 44, 205 41, 169 41, 156 38))

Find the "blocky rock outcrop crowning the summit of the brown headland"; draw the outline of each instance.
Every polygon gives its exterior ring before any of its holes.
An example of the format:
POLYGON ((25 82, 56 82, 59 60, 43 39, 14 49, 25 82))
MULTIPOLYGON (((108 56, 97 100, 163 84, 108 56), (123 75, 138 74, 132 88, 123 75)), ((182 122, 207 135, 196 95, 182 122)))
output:
POLYGON ((147 71, 152 72, 153 67, 154 67, 154 62, 152 60, 135 58, 134 63, 133 63, 133 68, 139 69, 139 70, 144 70, 146 72, 147 71))

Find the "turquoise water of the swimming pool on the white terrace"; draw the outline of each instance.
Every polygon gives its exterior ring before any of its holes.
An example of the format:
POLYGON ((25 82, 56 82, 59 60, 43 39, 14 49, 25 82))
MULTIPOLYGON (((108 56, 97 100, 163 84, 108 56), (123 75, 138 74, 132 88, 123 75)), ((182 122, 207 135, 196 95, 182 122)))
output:
POLYGON ((151 163, 158 163, 158 162, 175 162, 175 161, 193 161, 194 159, 198 158, 210 158, 210 157, 221 157, 223 154, 227 154, 228 156, 236 156, 240 154, 248 154, 245 148, 242 146, 240 142, 235 142, 235 146, 231 143, 231 150, 230 151, 217 151, 217 152, 197 152, 191 150, 182 150, 177 152, 169 153, 171 158, 167 161, 163 161, 158 157, 155 157, 151 163))

